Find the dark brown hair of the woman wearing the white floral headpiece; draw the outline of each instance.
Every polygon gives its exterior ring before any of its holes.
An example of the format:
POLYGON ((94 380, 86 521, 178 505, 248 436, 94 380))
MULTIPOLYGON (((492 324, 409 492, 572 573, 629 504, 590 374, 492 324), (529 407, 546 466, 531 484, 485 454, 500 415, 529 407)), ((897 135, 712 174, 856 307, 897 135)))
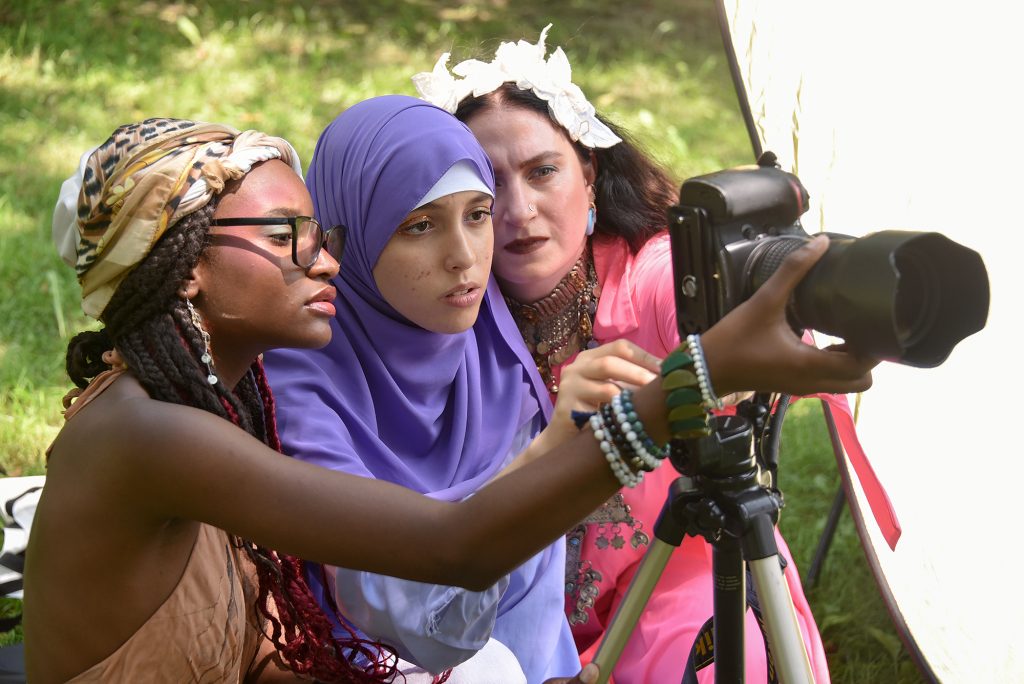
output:
MULTIPOLYGON (((551 118, 548 103, 532 90, 522 90, 514 83, 505 83, 493 92, 463 99, 455 116, 468 124, 479 113, 499 108, 519 108, 543 114, 568 138, 562 126, 551 118)), ((626 131, 604 117, 597 118, 623 141, 596 149, 572 142, 584 166, 591 165, 591 154, 597 162, 594 190, 598 211, 594 231, 623 238, 633 252, 638 252, 644 243, 666 229, 667 212, 676 202, 677 185, 668 171, 646 155, 626 131)))

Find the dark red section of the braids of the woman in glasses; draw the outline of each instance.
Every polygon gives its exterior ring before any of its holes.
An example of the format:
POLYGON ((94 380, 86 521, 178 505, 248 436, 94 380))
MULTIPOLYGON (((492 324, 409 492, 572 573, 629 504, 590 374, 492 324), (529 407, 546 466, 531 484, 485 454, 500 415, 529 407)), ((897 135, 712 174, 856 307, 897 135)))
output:
MULTIPOLYGON (((257 394, 263 403, 267 444, 280 452, 281 436, 278 433, 273 393, 262 362, 257 360, 251 370, 257 394)), ((340 614, 331 592, 326 590, 324 594, 329 606, 337 623, 347 633, 344 638, 334 635, 334 626, 317 603, 305 576, 305 566, 308 565, 310 571, 319 574, 324 587, 329 587, 324 565, 269 550, 264 550, 264 561, 271 562, 257 565, 257 606, 270 622, 270 639, 289 667, 301 675, 310 675, 324 682, 390 681, 395 674, 396 658, 383 644, 360 637, 340 614), (270 606, 271 598, 276 611, 270 606)))

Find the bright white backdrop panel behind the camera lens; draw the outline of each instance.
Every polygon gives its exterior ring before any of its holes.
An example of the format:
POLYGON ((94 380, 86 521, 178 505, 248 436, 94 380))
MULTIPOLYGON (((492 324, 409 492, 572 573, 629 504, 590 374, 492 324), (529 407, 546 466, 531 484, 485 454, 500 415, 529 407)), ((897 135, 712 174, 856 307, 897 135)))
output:
POLYGON ((883 365, 862 398, 858 434, 903 527, 895 551, 862 495, 860 508, 935 675, 1024 681, 1024 9, 724 6, 763 146, 811 195, 808 232, 938 230, 985 261, 986 328, 937 369, 883 365))

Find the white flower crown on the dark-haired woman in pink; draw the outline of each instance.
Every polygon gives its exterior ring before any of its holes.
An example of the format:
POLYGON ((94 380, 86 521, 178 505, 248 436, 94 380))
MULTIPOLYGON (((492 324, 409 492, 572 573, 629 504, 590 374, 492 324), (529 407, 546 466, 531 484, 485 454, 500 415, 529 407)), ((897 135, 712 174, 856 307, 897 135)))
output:
POLYGON ((479 97, 494 92, 504 83, 515 83, 520 90, 532 90, 545 100, 551 116, 572 140, 590 148, 610 147, 622 142, 622 138, 598 121, 594 105, 580 86, 572 83, 572 70, 562 48, 555 48, 545 60, 544 39, 550 28, 550 24, 544 28, 536 45, 524 40, 502 43, 489 63, 479 59, 460 61, 452 69, 452 74, 461 79, 449 73, 447 60, 452 54, 445 52, 432 72, 414 76, 413 84, 420 97, 455 114, 466 97, 479 97))

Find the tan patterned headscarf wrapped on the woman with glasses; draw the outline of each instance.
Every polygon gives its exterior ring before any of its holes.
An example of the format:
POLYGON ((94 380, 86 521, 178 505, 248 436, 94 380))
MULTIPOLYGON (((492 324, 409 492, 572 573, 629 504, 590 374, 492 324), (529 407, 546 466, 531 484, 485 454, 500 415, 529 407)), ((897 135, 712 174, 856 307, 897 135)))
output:
POLYGON ((270 159, 301 176, 287 140, 182 119, 121 126, 83 155, 60 187, 53 241, 75 266, 85 312, 99 318, 121 281, 167 228, 270 159))

